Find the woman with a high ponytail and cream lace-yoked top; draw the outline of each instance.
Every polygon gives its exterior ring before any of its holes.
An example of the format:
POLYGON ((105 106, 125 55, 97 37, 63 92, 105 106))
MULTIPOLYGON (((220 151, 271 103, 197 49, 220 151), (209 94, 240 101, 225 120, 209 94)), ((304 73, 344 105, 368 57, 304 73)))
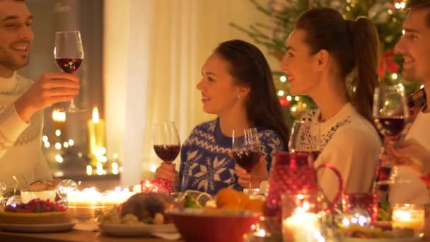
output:
MULTIPOLYGON (((378 33, 368 18, 349 21, 332 8, 313 8, 298 18, 281 64, 291 94, 308 95, 318 105, 303 117, 310 129, 299 146, 318 149, 315 166, 332 163, 345 192, 370 192, 373 185, 381 145, 371 116, 377 57, 378 33)), ((335 174, 320 171, 318 181, 332 199, 335 174)))

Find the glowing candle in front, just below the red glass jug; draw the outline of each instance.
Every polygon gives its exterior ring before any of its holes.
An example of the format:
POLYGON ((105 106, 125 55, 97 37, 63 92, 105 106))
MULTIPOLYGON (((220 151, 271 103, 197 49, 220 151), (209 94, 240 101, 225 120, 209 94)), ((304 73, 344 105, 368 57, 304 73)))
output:
POLYGON ((317 214, 305 212, 302 207, 298 207, 291 217, 282 221, 282 236, 284 241, 318 241, 321 234, 317 214))

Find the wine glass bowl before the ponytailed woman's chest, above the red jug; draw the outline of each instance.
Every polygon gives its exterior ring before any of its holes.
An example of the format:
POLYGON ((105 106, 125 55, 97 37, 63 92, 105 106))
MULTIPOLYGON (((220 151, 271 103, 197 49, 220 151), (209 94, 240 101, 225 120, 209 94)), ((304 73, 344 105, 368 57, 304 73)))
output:
POLYGON ((291 128, 288 149, 292 153, 308 153, 312 156, 313 161, 315 161, 321 152, 320 136, 319 122, 318 125, 310 125, 309 122, 296 120, 291 128))

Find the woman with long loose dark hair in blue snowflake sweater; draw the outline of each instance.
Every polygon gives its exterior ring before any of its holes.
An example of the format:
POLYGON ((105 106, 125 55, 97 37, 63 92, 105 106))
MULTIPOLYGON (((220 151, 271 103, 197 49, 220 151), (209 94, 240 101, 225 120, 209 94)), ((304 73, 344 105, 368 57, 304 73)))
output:
POLYGON ((156 178, 173 180, 181 191, 199 190, 211 195, 221 188, 242 190, 248 179, 238 180, 236 161, 228 156, 232 132, 257 127, 261 159, 251 172, 252 186, 266 180, 274 151, 286 149, 284 125, 272 71, 257 47, 242 40, 221 43, 202 67, 197 84, 203 110, 218 115, 195 127, 182 144, 180 171, 162 163, 156 178))

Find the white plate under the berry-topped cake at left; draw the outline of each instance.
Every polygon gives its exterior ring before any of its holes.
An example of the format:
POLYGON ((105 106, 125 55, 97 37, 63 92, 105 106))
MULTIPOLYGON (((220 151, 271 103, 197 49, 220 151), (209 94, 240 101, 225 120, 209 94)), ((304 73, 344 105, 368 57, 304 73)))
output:
POLYGON ((62 232, 68 231, 77 223, 77 220, 62 224, 0 224, 0 230, 11 232, 62 232))

